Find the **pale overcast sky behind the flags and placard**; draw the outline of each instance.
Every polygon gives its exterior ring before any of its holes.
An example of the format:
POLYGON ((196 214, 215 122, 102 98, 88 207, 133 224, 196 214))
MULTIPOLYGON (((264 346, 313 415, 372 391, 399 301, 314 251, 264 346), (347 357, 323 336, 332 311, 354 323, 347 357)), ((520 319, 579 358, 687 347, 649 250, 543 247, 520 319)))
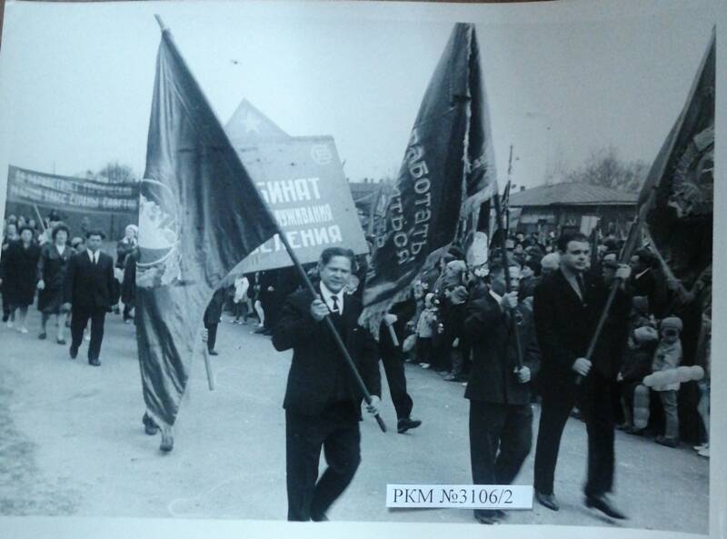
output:
MULTIPOLYGON (((508 23, 483 6, 463 21, 477 24, 499 176, 511 144, 520 185, 539 185, 555 162, 576 166, 609 145, 623 159, 651 162, 709 42, 707 5, 577 24, 568 5, 542 24, 508 23)), ((397 171, 451 22, 406 21, 401 9, 389 17, 368 5, 303 9, 7 5, 0 115, 11 136, 0 146, 0 174, 8 163, 74 175, 109 161, 144 172, 154 13, 223 124, 247 98, 290 135, 334 135, 354 181, 397 171)))

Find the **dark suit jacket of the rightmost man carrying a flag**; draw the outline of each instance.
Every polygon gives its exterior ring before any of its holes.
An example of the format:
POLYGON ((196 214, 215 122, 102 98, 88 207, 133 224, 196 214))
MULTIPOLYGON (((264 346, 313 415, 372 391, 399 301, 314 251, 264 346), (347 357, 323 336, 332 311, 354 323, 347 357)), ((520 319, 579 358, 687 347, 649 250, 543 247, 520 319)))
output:
MULTIPOLYGON (((538 344, 543 354, 543 391, 573 391, 577 374, 573 362, 585 356, 603 311, 609 288, 603 279, 583 275, 585 301, 573 290, 561 270, 548 275, 535 288, 533 314, 538 344)), ((618 373, 628 337, 631 299, 621 289, 603 327, 591 361, 595 372, 607 379, 618 373)))

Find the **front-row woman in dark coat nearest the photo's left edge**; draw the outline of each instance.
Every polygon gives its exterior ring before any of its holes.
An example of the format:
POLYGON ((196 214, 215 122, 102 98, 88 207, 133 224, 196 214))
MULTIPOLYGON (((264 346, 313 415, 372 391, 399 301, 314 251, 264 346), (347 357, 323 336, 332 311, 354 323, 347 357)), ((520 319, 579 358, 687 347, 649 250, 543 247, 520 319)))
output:
MULTIPOLYGON (((20 241, 11 244, 5 251, 5 256, 3 266, 10 309, 18 314, 15 317, 17 330, 26 334, 28 328, 25 327, 25 318, 28 315, 28 306, 32 305, 35 299, 38 260, 40 260, 40 247, 33 242, 33 229, 30 226, 21 227, 20 241)), ((12 320, 7 321, 7 326, 13 327, 12 320)))

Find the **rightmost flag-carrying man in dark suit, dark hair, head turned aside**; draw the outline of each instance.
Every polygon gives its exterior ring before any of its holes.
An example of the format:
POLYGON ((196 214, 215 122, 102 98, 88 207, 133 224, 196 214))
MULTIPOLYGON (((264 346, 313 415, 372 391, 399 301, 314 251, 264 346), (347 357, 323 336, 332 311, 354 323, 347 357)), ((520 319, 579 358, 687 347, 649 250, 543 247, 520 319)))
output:
MULTIPOLYGON (((628 294, 619 289, 603 334, 593 353, 585 357, 609 289, 601 276, 587 274, 588 238, 564 233, 558 239, 560 269, 535 289, 535 329, 543 354, 538 386, 543 406, 535 450, 535 499, 557 511, 553 476, 563 427, 578 401, 588 432, 588 480, 585 503, 613 518, 625 516, 606 497, 613 484, 613 429, 610 388, 618 373, 628 336, 628 294)), ((619 266, 616 277, 630 274, 619 266)))

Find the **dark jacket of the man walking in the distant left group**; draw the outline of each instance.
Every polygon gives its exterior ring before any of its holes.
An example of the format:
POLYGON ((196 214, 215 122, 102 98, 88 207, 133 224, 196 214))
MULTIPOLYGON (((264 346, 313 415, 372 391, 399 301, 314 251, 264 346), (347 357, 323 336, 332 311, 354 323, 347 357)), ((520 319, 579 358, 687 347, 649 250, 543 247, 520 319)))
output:
POLYGON ((65 275, 64 303, 77 307, 111 307, 116 280, 114 259, 99 253, 98 263, 91 262, 87 251, 71 256, 65 275))

